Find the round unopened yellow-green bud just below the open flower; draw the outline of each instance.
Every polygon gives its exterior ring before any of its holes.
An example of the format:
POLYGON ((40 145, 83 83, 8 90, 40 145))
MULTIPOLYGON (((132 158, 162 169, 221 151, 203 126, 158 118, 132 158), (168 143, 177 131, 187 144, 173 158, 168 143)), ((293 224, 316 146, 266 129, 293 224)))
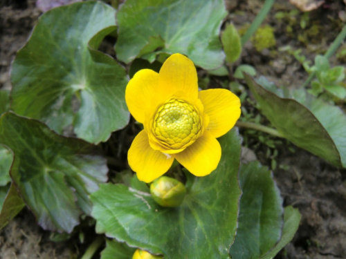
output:
POLYGON ((162 176, 150 185, 152 198, 163 207, 178 207, 183 202, 186 188, 174 178, 162 176))

